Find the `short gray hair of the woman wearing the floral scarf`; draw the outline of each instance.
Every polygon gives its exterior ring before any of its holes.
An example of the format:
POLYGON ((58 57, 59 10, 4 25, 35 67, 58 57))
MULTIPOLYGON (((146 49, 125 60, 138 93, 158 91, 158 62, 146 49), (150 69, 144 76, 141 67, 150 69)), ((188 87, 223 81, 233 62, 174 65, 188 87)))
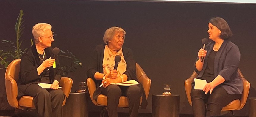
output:
POLYGON ((116 31, 123 32, 124 33, 124 39, 125 39, 126 32, 124 31, 124 29, 114 26, 114 27, 111 27, 111 28, 106 30, 106 32, 104 34, 104 37, 103 37, 103 41, 105 42, 105 44, 108 44, 108 42, 113 39, 114 34, 115 34, 116 31))

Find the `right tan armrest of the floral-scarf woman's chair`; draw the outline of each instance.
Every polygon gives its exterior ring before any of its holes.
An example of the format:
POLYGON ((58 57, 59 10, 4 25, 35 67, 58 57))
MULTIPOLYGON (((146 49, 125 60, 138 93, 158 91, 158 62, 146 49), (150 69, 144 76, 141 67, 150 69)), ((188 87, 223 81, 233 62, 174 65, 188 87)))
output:
POLYGON ((139 82, 142 84, 144 91, 145 91, 145 95, 146 95, 146 99, 148 99, 149 96, 149 89, 151 86, 151 80, 147 77, 147 75, 141 75, 138 78, 139 82))

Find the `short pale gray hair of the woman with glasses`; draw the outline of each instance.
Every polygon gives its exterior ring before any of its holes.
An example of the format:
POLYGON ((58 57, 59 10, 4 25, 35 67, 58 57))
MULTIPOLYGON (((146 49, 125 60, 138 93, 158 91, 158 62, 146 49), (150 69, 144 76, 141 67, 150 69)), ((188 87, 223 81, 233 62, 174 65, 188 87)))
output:
POLYGON ((33 26, 32 33, 34 36, 35 43, 38 43, 38 38, 44 34, 44 31, 50 30, 51 25, 48 23, 38 23, 35 26, 33 26))

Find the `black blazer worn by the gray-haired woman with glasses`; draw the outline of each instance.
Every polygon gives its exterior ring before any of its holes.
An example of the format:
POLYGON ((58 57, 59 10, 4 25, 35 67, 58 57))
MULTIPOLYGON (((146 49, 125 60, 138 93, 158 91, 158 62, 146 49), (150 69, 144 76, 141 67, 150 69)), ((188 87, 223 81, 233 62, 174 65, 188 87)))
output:
MULTIPOLYGON (((45 48, 46 56, 52 56, 52 48, 45 48)), ((49 68, 50 82, 54 80, 60 82, 61 69, 58 57, 55 57, 56 68, 49 68)), ((37 67, 41 65, 35 44, 33 44, 21 57, 20 73, 18 84, 18 99, 24 96, 26 88, 33 83, 40 83, 42 74, 38 75, 37 67)))

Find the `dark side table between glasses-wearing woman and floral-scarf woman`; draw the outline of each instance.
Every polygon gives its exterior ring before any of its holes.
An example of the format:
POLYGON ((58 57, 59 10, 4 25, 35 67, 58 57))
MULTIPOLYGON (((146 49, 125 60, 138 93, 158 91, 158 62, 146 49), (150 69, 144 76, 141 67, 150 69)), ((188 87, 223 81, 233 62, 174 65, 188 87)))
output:
POLYGON ((62 117, 88 117, 89 92, 70 93, 62 107, 62 117))

